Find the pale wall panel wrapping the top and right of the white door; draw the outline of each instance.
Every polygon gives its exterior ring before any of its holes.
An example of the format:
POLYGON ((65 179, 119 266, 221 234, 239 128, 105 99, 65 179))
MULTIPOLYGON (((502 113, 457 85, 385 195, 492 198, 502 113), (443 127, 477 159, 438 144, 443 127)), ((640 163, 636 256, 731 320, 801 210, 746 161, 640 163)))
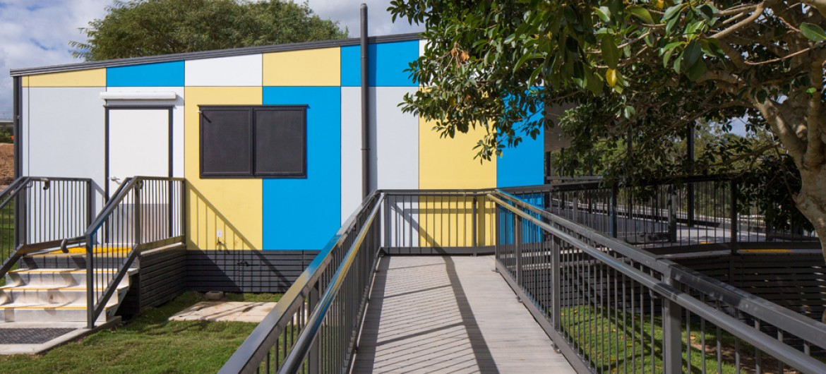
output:
POLYGON ((183 178, 183 87, 110 87, 107 92, 175 92, 174 101, 112 101, 110 105, 135 105, 140 107, 173 106, 172 110, 172 175, 183 178))

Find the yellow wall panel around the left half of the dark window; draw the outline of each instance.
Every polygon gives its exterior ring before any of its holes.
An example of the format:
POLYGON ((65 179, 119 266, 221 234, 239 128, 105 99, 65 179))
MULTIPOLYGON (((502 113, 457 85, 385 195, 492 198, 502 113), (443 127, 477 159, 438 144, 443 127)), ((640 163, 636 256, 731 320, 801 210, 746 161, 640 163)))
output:
POLYGON ((261 105, 260 87, 188 87, 184 160, 188 181, 187 227, 192 249, 261 249, 263 183, 260 179, 200 178, 199 105, 261 105), (217 231, 223 231, 218 238, 217 231))

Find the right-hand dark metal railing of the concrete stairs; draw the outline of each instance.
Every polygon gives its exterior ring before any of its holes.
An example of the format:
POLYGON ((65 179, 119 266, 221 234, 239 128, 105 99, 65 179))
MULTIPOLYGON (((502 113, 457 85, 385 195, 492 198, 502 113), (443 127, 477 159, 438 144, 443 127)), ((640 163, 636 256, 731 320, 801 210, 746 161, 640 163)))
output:
POLYGON ((87 323, 92 329, 135 258, 183 244, 183 178, 126 178, 85 234, 87 323))

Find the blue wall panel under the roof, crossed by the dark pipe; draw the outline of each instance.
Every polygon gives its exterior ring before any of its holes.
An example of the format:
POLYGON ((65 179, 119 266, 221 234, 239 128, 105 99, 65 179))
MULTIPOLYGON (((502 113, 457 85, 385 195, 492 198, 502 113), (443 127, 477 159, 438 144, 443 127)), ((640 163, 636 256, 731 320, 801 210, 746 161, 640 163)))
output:
MULTIPOLYGON (((419 40, 378 43, 368 46, 370 86, 416 87, 410 63, 419 58, 419 40)), ((361 86, 361 46, 341 48, 341 85, 361 86)))

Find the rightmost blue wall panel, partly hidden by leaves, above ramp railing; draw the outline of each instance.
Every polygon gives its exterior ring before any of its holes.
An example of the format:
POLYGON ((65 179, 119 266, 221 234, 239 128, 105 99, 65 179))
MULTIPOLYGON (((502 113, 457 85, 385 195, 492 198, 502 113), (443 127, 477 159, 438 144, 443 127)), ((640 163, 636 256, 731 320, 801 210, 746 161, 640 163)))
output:
MULTIPOLYGON (((542 111, 539 111, 531 119, 539 120, 536 116, 542 115, 542 111)), ((514 127, 518 129, 520 125, 521 123, 516 123, 514 127)), ((544 153, 544 129, 539 130, 536 139, 523 135, 522 142, 515 148, 503 149, 501 157, 496 161, 496 187, 544 184, 544 153)))

